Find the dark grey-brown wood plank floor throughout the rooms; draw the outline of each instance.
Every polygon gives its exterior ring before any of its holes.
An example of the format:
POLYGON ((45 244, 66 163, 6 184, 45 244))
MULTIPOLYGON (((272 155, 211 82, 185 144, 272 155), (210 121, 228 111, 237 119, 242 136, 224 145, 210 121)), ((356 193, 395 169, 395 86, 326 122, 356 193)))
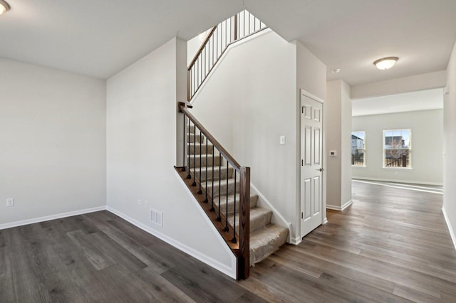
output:
POLYGON ((442 194, 425 187, 353 181, 352 206, 240 282, 108 211, 0 230, 0 302, 456 302, 442 194))

